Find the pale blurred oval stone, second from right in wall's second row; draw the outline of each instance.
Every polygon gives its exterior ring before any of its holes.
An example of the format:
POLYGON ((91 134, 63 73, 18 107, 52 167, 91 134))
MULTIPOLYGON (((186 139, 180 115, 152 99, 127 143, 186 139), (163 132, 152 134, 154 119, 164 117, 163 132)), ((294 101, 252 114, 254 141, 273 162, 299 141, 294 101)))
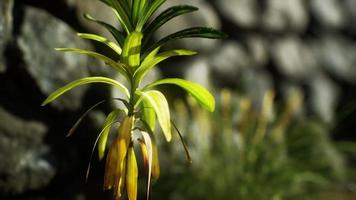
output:
POLYGON ((271 52, 279 71, 289 78, 307 79, 319 70, 313 51, 298 37, 277 40, 271 52))

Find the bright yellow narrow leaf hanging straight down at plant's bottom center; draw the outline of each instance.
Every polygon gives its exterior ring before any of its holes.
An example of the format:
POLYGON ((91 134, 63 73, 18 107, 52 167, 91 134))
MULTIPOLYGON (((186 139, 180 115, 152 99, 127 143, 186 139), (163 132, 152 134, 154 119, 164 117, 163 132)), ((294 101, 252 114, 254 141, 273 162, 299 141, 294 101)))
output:
POLYGON ((127 173, 126 173, 126 187, 127 187, 127 196, 129 200, 136 200, 137 198, 137 178, 138 178, 138 168, 137 168, 135 150, 133 147, 130 147, 127 153, 127 173))

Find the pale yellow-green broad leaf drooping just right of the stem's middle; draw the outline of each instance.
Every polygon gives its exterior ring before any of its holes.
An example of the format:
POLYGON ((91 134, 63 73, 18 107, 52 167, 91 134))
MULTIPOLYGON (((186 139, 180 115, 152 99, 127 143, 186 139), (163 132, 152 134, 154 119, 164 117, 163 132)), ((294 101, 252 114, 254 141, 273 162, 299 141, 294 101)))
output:
POLYGON ((147 100, 156 113, 158 122, 161 126, 166 140, 169 142, 172 139, 171 122, 169 114, 169 106, 166 97, 157 90, 142 92, 142 98, 147 100))

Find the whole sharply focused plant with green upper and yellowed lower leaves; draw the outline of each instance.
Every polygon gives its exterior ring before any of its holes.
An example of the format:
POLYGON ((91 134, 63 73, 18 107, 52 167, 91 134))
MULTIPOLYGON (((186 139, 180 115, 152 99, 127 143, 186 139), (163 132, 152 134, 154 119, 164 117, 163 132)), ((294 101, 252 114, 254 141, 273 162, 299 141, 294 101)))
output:
MULTIPOLYGON (((172 138, 168 102, 160 91, 153 88, 162 84, 180 86, 190 93, 203 108, 211 112, 214 110, 215 101, 214 97, 205 88, 183 79, 162 79, 145 86, 141 86, 141 81, 154 66, 170 57, 196 54, 194 51, 185 49, 175 49, 160 53, 161 46, 167 42, 192 37, 219 39, 225 37, 225 35, 213 28, 193 27, 178 31, 157 42, 153 42, 152 36, 154 32, 163 24, 176 16, 196 11, 197 8, 188 5, 173 6, 151 20, 153 14, 166 0, 100 1, 112 9, 121 25, 122 31, 106 22, 94 19, 90 15, 85 15, 85 18, 106 28, 116 39, 116 42, 109 41, 95 34, 79 33, 78 36, 106 45, 112 51, 108 55, 115 56, 110 57, 98 52, 76 48, 57 48, 56 50, 85 54, 104 61, 108 66, 114 68, 125 77, 128 87, 107 77, 86 77, 59 88, 43 102, 43 105, 54 101, 65 92, 84 84, 105 83, 120 90, 126 98, 117 98, 115 100, 121 101, 126 108, 123 110, 115 109, 107 116, 103 129, 95 142, 95 144, 98 143, 99 159, 101 160, 104 157, 110 128, 116 122, 119 114, 125 113, 125 117, 119 126, 117 137, 110 146, 107 155, 104 189, 114 190, 116 199, 120 199, 124 189, 126 189, 130 200, 137 198, 138 167, 134 143, 139 143, 145 166, 148 169, 148 198, 151 175, 153 178, 158 178, 159 176, 157 146, 153 135, 153 132, 156 131, 156 119, 166 140, 169 142, 172 138), (134 134, 139 135, 138 140, 134 140, 134 134)), ((91 109, 101 103, 99 102, 91 109)), ((74 125, 74 128, 81 119, 74 125)))

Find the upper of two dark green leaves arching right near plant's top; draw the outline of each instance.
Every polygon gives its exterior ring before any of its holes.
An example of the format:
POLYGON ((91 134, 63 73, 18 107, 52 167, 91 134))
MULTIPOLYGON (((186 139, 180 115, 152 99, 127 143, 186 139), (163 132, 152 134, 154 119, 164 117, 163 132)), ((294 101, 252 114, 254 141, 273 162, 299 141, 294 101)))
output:
POLYGON ((178 6, 173 6, 165 11, 163 11, 160 15, 158 15, 148 26, 146 26, 143 30, 144 36, 145 36, 145 41, 143 42, 144 46, 146 46, 146 43, 150 40, 151 36, 153 33, 159 29, 163 24, 168 22, 174 17, 177 17, 179 15, 183 15, 186 13, 194 12, 197 11, 198 8, 194 6, 189 6, 189 5, 178 5, 178 6))

